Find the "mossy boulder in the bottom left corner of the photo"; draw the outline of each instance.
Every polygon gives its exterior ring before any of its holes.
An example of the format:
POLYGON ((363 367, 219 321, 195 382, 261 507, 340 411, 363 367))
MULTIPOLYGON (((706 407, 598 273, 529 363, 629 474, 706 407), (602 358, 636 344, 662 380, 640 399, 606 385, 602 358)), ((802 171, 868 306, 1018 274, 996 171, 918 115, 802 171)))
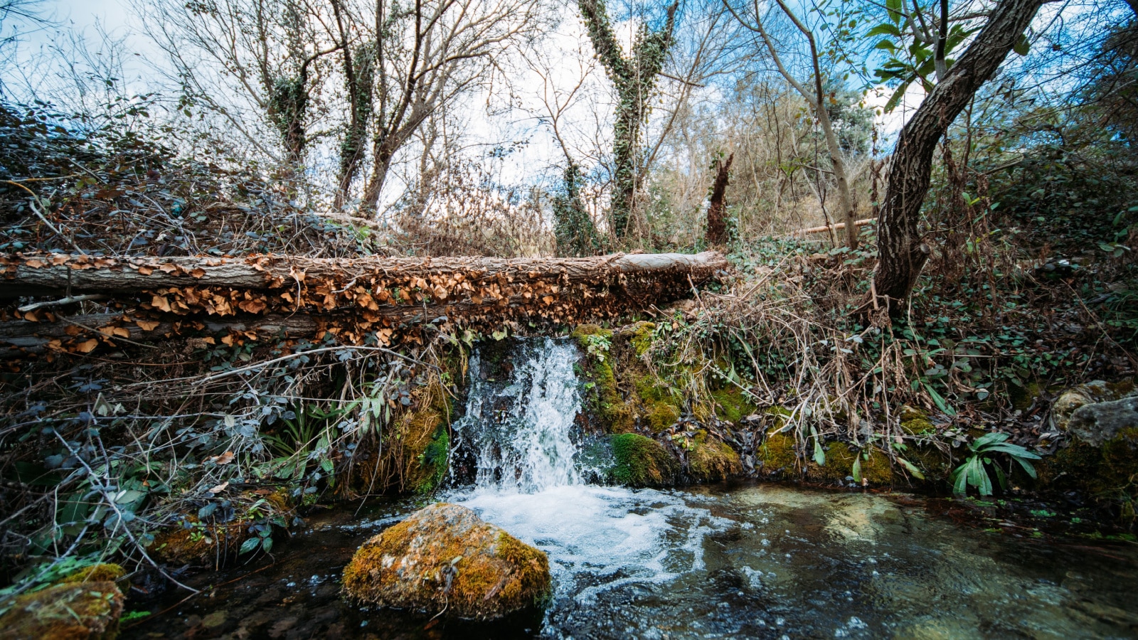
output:
POLYGON ((0 602, 0 638, 112 640, 118 634, 123 593, 114 582, 63 583, 0 602))

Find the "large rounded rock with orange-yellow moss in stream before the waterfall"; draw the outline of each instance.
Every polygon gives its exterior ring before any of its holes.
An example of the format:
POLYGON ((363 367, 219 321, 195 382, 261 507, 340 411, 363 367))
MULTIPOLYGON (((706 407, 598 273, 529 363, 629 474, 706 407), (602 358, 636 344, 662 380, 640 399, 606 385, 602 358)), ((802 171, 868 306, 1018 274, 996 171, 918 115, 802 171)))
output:
POLYGON ((440 502, 364 542, 344 590, 361 602, 490 621, 544 605, 552 581, 545 552, 440 502))

